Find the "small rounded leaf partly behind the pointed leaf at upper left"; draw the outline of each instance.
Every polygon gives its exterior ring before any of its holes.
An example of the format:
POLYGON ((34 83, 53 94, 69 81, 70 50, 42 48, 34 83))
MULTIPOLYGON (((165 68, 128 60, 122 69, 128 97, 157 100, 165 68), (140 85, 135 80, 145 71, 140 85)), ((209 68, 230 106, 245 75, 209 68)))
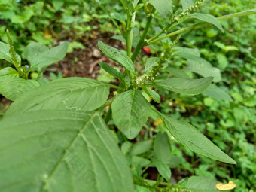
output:
POLYGON ((37 56, 47 50, 49 50, 49 48, 46 47, 44 44, 33 42, 26 46, 26 48, 23 50, 23 54, 25 58, 29 61, 29 63, 32 63, 33 59, 35 59, 37 56))

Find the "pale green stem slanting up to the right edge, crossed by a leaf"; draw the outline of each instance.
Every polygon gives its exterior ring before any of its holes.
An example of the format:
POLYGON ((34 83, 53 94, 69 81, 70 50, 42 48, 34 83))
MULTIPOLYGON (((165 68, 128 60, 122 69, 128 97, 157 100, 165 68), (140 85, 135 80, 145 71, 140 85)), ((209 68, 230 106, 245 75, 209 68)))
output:
MULTIPOLYGON (((242 12, 239 12, 239 13, 236 13, 236 14, 224 15, 224 16, 218 17, 217 20, 227 20, 227 19, 230 19, 230 18, 233 18, 233 17, 242 17, 242 16, 246 16, 246 15, 250 15, 250 14, 256 14, 256 9, 251 9, 251 10, 248 10, 248 11, 242 11, 242 12)), ((197 26, 203 26, 205 24, 211 24, 211 23, 204 22, 204 23, 198 23, 198 24, 193 25, 193 26, 188 26, 188 27, 186 27, 184 29, 180 29, 178 31, 171 32, 171 33, 169 33, 167 35, 163 35, 162 37, 154 39, 153 41, 149 41, 148 44, 154 44, 157 41, 163 40, 164 38, 169 38, 169 37, 172 37, 173 35, 178 35, 181 32, 186 32, 187 30, 194 29, 197 26)))

